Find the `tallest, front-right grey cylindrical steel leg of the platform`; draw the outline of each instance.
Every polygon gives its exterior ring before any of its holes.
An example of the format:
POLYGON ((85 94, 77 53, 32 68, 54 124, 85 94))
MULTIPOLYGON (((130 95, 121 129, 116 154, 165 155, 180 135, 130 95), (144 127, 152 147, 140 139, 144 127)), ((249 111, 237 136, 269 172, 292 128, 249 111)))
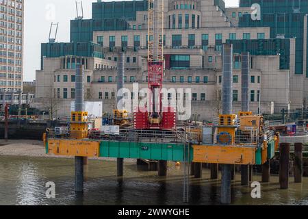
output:
MULTIPOLYGON (((222 114, 232 114, 233 45, 222 45, 222 114)), ((231 165, 222 164, 220 202, 231 203, 231 165)))

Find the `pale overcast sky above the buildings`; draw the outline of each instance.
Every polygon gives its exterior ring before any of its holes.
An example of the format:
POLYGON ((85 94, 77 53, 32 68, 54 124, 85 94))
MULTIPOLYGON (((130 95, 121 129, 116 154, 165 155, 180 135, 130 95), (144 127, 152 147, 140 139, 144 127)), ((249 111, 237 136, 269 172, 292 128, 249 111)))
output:
MULTIPOLYGON (((84 18, 91 18, 95 0, 82 2, 84 18)), ((227 7, 238 5, 238 0, 225 2, 227 7)), ((70 19, 75 17, 75 0, 25 0, 24 81, 35 80, 36 70, 40 69, 40 43, 48 42, 51 22, 59 22, 57 42, 69 42, 70 19)))

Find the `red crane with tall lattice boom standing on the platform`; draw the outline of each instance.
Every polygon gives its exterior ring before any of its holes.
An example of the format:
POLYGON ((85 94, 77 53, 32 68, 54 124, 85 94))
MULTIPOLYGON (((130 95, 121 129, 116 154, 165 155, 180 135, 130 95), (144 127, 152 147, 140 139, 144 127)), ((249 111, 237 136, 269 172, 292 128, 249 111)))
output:
POLYGON ((175 107, 162 105, 164 0, 149 0, 148 25, 148 83, 151 96, 149 96, 149 106, 134 109, 134 127, 135 129, 175 129, 175 107))

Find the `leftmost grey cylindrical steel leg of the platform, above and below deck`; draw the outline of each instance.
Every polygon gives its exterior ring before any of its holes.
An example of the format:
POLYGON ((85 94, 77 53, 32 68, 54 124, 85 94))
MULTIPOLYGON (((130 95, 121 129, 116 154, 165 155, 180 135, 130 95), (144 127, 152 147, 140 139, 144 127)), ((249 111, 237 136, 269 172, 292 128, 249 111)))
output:
MULTIPOLYGON (((84 111, 84 66, 76 66, 75 112, 84 111)), ((75 157, 75 191, 84 192, 84 157, 75 157)))

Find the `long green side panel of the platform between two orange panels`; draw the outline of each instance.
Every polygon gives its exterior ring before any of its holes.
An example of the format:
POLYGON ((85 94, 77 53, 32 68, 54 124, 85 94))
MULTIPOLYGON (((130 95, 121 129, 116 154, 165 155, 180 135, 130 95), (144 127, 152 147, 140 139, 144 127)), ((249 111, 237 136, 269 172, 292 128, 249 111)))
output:
MULTIPOLYGON (((186 152, 188 155, 188 151, 186 152)), ((100 144, 100 157, 131 158, 131 159, 154 159, 174 162, 183 162, 183 144, 159 144, 148 142, 108 142, 100 144)), ((193 149, 190 147, 192 162, 193 149)))

